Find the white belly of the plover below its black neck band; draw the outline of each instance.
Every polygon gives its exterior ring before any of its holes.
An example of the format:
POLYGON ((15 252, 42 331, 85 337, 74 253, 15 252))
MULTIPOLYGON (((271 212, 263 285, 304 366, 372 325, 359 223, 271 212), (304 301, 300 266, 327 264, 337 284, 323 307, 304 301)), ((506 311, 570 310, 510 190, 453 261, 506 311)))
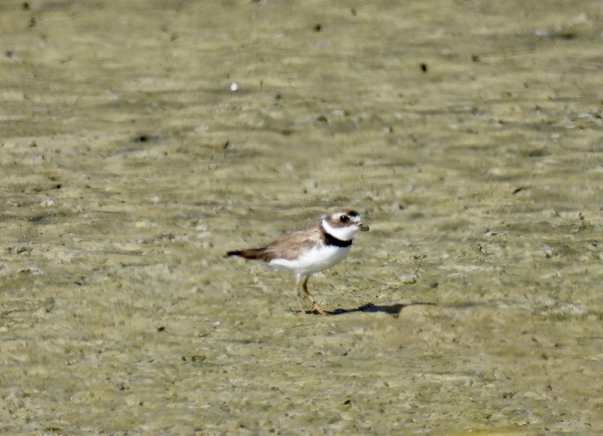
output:
POLYGON ((338 262, 343 261, 350 253, 350 247, 335 247, 333 245, 323 245, 322 247, 312 248, 301 254, 297 259, 291 261, 286 259, 274 259, 268 264, 267 268, 275 271, 287 271, 292 274, 309 275, 326 270, 338 262))

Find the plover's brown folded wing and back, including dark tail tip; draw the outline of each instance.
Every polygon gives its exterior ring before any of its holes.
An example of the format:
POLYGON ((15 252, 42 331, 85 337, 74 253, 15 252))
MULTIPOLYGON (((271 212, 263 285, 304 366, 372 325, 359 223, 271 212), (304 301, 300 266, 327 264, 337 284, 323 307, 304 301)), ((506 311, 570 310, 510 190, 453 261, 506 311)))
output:
POLYGON ((309 250, 323 239, 320 223, 287 233, 282 238, 263 248, 229 251, 226 256, 241 256, 245 259, 258 259, 270 262, 273 259, 295 259, 303 251, 309 250))

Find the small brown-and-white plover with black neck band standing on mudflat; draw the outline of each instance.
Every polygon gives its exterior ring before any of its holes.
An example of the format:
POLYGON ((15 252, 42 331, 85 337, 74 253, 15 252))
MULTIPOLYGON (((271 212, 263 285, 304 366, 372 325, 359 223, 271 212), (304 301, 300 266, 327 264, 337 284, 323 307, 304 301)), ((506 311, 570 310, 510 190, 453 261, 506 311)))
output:
POLYGON ((307 313, 318 312, 324 315, 329 311, 321 309, 308 292, 308 279, 312 274, 326 270, 346 258, 352 248, 356 230, 368 230, 368 226, 362 224, 360 214, 352 209, 337 209, 327 213, 318 223, 288 233, 265 247, 228 251, 225 257, 254 259, 270 270, 293 274, 301 312, 304 313, 305 310, 301 303, 300 283, 312 302, 312 308, 307 313))

